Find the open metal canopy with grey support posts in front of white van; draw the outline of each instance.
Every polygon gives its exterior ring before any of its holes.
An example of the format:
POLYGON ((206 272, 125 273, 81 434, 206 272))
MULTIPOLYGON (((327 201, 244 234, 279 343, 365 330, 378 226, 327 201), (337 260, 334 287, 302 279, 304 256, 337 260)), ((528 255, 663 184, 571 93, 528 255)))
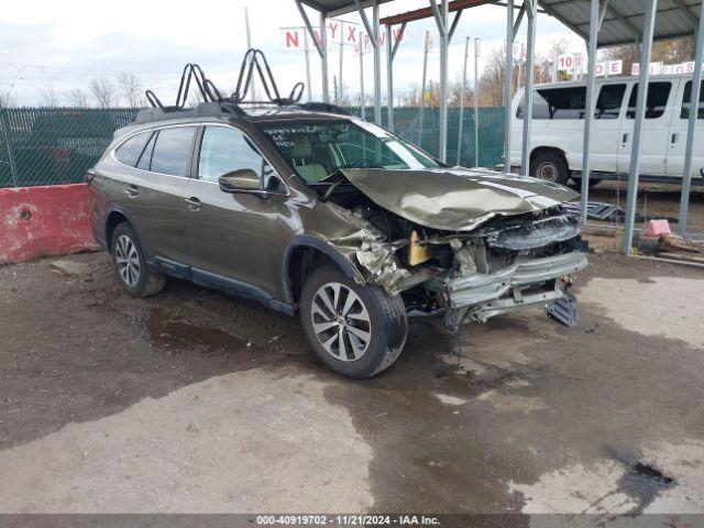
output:
MULTIPOLYGON (((447 100, 448 100, 448 46, 457 29, 463 9, 484 4, 501 6, 506 9, 506 64, 513 64, 513 43, 524 20, 527 20, 527 63, 535 63, 536 22, 538 13, 552 15, 564 25, 582 36, 587 48, 587 86, 586 109, 584 117, 584 144, 582 151, 582 221, 586 222, 586 206, 590 186, 590 154, 594 110, 596 107, 596 58, 600 47, 608 47, 623 44, 640 45, 639 86, 636 113, 634 119, 632 148, 630 153, 630 169, 628 176, 628 198, 626 208, 624 253, 629 254, 636 216, 638 196, 638 179, 640 170, 640 138, 646 114, 646 101, 648 98, 648 85, 650 81, 650 56, 653 41, 668 40, 688 35, 696 35, 694 75, 691 99, 697 101, 702 80, 702 66, 704 62, 704 3, 702 0, 428 0, 428 8, 387 16, 380 21, 380 4, 392 0, 294 0, 312 37, 321 58, 323 100, 328 97, 328 63, 326 45, 326 20, 330 16, 358 11, 364 26, 370 34, 374 48, 374 118, 381 124, 381 24, 386 25, 387 35, 387 82, 388 82, 388 123, 394 128, 393 109, 393 61, 397 46, 392 45, 391 26, 402 24, 402 33, 408 22, 433 16, 440 35, 440 152, 442 161, 447 158, 447 100), (302 7, 306 4, 320 16, 320 42, 315 37, 312 24, 302 7), (366 16, 365 9, 372 8, 372 22, 366 16), (450 23, 449 13, 457 14, 450 23)), ((504 166, 510 169, 512 145, 512 96, 513 96, 513 68, 505 68, 504 78, 504 105, 506 108, 506 136, 504 145, 504 166)), ((522 147, 521 169, 528 175, 530 167, 530 130, 532 121, 534 99, 534 68, 526 68, 526 82, 524 95, 522 120, 522 147)), ((682 195, 680 202, 679 230, 686 230, 688 206, 690 199, 690 185, 692 179, 692 154, 695 139, 696 111, 690 112, 686 150, 684 156, 684 172, 682 178, 682 195)), ((701 141, 701 139, 700 139, 701 141)))

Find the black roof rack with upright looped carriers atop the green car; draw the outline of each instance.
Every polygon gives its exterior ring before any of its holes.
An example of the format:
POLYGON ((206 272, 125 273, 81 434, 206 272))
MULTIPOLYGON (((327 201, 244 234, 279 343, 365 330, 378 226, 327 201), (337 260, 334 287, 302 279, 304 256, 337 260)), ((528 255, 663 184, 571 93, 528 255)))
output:
POLYGON ((146 90, 144 94, 152 108, 140 111, 133 122, 145 123, 174 118, 222 117, 223 114, 248 118, 251 113, 248 113, 242 108, 243 106, 254 106, 260 108, 296 108, 314 112, 339 113, 343 116, 350 114, 346 110, 338 107, 337 105, 328 102, 299 102, 304 94, 304 87, 305 85, 302 82, 297 82, 292 88, 288 97, 282 97, 264 53, 261 50, 250 48, 246 51, 244 58, 242 59, 237 87, 229 97, 222 96, 216 85, 206 77, 199 65, 188 63, 184 66, 180 75, 180 82, 178 84, 175 105, 164 106, 158 97, 156 97, 156 94, 152 90, 146 90), (246 96, 250 92, 255 74, 258 76, 264 88, 266 100, 246 100, 246 96), (191 80, 195 81, 204 102, 189 109, 186 108, 186 105, 188 102, 188 92, 191 80))

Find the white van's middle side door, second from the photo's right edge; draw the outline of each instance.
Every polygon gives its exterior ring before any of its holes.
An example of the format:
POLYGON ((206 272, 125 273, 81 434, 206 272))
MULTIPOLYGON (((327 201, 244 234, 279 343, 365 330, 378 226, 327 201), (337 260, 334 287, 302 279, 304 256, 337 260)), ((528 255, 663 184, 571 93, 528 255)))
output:
MULTIPOLYGON (((675 88, 672 80, 652 80, 648 85, 646 119, 640 139, 640 174, 666 174, 675 88)), ((630 168, 637 97, 638 82, 634 82, 629 90, 626 116, 620 120, 618 172, 623 174, 627 174, 630 168)))

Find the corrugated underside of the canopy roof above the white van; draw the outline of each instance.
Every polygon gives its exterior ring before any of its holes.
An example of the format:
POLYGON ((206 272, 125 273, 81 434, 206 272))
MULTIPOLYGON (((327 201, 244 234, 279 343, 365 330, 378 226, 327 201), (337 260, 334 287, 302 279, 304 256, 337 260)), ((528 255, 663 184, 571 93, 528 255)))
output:
MULTIPOLYGON (((586 38, 590 32, 588 1, 538 0, 538 3, 548 14, 586 38)), ((646 0, 610 0, 598 35, 600 47, 632 44, 640 40, 648 3, 646 0)), ((659 0, 653 40, 664 41, 696 33, 701 6, 702 0, 659 0)))

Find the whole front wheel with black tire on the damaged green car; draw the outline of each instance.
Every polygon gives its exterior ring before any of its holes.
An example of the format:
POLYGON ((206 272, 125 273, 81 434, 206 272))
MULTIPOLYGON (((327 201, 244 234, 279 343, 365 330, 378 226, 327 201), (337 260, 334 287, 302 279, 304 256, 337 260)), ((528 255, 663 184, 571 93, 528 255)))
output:
POLYGON ((333 266, 317 268, 306 280, 300 322, 316 356, 355 378, 388 369, 400 355, 408 330, 400 296, 360 286, 333 266))

